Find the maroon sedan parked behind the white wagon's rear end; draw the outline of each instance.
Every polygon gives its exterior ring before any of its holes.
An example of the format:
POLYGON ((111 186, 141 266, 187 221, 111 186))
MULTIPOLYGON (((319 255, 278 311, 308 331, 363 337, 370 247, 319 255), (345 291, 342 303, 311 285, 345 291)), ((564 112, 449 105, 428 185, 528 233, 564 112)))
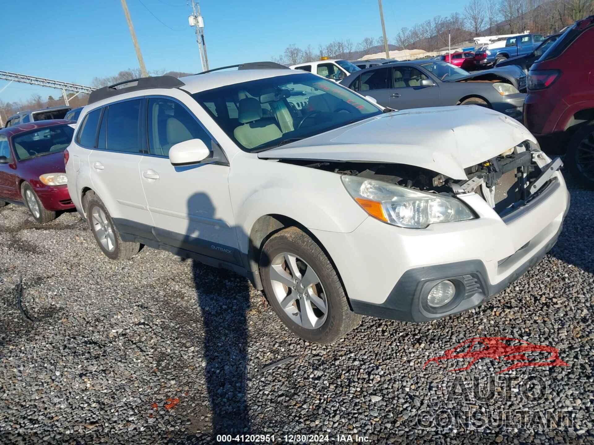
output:
POLYGON ((37 222, 74 208, 68 194, 64 150, 71 120, 40 120, 0 130, 0 207, 24 204, 37 222))

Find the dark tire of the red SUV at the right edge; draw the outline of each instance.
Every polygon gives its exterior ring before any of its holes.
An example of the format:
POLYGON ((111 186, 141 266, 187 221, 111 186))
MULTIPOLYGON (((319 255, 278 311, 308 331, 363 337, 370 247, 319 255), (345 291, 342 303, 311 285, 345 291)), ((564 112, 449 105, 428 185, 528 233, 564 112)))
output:
POLYGON ((594 120, 571 137, 564 161, 571 176, 582 187, 594 190, 594 120))

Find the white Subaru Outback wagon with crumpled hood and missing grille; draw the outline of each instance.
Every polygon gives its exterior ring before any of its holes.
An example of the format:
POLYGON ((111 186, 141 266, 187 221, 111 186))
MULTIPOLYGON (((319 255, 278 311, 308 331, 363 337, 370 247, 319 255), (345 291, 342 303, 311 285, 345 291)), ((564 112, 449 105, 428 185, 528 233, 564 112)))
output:
POLYGON ((557 241, 561 161, 514 119, 394 112, 268 62, 213 71, 91 94, 68 190, 109 258, 144 244, 231 269, 296 335, 330 343, 361 315, 478 306, 557 241))

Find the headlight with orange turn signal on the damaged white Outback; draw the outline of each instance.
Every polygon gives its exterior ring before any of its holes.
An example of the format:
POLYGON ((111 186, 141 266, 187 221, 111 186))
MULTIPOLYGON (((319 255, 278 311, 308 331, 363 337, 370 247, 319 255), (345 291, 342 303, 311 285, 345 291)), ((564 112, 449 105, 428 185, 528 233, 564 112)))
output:
POLYGON ((387 182, 341 176, 350 196, 370 216, 406 228, 425 228, 437 222, 472 220, 475 216, 456 198, 419 192, 387 182))

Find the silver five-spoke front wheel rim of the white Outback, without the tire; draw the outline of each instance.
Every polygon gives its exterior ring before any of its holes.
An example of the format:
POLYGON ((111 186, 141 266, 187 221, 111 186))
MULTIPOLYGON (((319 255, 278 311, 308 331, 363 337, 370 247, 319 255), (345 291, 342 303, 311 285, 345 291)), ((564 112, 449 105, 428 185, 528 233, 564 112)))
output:
POLYGON ((274 297, 287 316, 306 329, 320 328, 326 321, 328 301, 314 269, 293 253, 276 255, 270 265, 274 297))

